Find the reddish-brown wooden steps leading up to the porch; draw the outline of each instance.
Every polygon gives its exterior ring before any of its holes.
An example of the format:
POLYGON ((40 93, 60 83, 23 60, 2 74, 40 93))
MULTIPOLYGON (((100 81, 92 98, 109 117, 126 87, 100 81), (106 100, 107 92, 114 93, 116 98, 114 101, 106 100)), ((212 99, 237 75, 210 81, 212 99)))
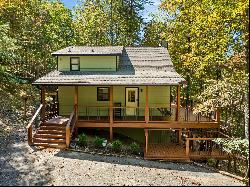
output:
POLYGON ((66 148, 67 119, 53 118, 40 125, 33 137, 34 146, 66 148))

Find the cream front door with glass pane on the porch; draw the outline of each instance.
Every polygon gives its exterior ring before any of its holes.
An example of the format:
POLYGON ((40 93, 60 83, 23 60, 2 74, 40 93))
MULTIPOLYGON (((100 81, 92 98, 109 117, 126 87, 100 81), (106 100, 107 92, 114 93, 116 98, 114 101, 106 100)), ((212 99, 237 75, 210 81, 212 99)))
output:
POLYGON ((136 107, 138 107, 138 89, 139 88, 126 88, 126 115, 135 116, 136 107), (131 107, 131 108, 130 108, 131 107))

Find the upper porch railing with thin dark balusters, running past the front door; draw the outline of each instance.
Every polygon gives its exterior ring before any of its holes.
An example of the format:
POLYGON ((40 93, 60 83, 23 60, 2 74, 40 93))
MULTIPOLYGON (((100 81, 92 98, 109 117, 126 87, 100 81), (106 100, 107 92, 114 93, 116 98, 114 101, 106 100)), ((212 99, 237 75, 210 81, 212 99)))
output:
MULTIPOLYGON (((67 106, 60 106, 67 107, 67 106)), ((145 107, 125 107, 113 106, 113 121, 146 121, 145 107)), ((181 107, 177 115, 176 106, 153 106, 149 107, 149 122, 214 122, 216 121, 216 112, 210 114, 195 114, 192 108, 181 107)), ((78 106, 80 120, 85 121, 110 121, 110 106, 78 106)))

